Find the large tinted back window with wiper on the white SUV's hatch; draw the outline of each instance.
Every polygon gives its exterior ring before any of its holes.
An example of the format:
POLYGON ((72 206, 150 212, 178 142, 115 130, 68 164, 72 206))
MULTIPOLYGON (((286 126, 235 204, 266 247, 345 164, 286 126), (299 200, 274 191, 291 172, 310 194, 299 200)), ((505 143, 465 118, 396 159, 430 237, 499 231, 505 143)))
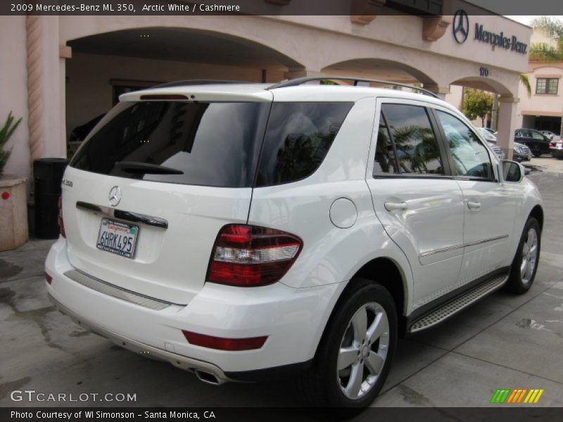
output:
POLYGON ((269 108, 270 103, 120 103, 70 165, 132 179, 252 186, 269 108), (131 172, 116 165, 121 161, 171 167, 182 174, 131 172))

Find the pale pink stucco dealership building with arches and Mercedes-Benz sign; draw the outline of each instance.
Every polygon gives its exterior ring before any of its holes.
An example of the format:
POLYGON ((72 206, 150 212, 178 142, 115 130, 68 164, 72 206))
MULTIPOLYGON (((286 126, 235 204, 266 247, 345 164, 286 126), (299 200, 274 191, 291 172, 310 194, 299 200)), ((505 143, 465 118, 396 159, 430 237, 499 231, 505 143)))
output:
POLYGON ((498 143, 512 152, 531 28, 459 0, 427 9, 354 0, 349 15, 291 15, 297 0, 257 1, 270 14, 1 16, 0 119, 23 117, 5 172, 30 177, 33 160, 72 153, 72 132, 120 94, 177 79, 352 75, 442 98, 454 86, 485 89, 499 95, 498 143))

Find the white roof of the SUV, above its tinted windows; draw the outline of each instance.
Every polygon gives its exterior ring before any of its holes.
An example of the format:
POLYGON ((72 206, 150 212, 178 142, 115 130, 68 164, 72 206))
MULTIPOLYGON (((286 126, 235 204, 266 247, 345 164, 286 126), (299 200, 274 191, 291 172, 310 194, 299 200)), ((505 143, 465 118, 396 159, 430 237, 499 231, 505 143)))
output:
MULTIPOLYGON (((393 84, 393 82, 389 82, 393 84)), ((120 101, 150 99, 178 99, 164 96, 185 96, 193 101, 358 101, 369 97, 392 97, 425 101, 457 110, 445 101, 424 94, 388 88, 372 88, 353 85, 302 84, 293 87, 274 87, 274 84, 216 83, 178 84, 168 87, 153 87, 120 96, 120 101), (270 89, 271 88, 271 89, 270 89), (152 98, 151 98, 152 96, 152 98)), ((182 99, 182 98, 179 98, 182 99)))

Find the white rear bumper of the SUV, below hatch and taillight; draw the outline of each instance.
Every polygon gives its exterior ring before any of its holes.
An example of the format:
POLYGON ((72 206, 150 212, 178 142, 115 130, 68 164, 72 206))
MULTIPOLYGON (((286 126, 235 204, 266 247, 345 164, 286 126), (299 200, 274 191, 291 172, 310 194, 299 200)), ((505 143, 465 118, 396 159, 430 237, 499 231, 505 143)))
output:
POLYGON ((244 373, 310 361, 346 285, 295 289, 281 283, 260 288, 205 283, 188 305, 170 304, 158 310, 65 276, 75 268, 68 261, 63 238, 52 246, 45 267, 53 277, 46 285, 50 299, 61 312, 122 347, 182 369, 212 373, 219 381, 246 380, 244 373), (189 344, 182 330, 222 338, 267 335, 267 340, 258 350, 213 350, 189 344))

